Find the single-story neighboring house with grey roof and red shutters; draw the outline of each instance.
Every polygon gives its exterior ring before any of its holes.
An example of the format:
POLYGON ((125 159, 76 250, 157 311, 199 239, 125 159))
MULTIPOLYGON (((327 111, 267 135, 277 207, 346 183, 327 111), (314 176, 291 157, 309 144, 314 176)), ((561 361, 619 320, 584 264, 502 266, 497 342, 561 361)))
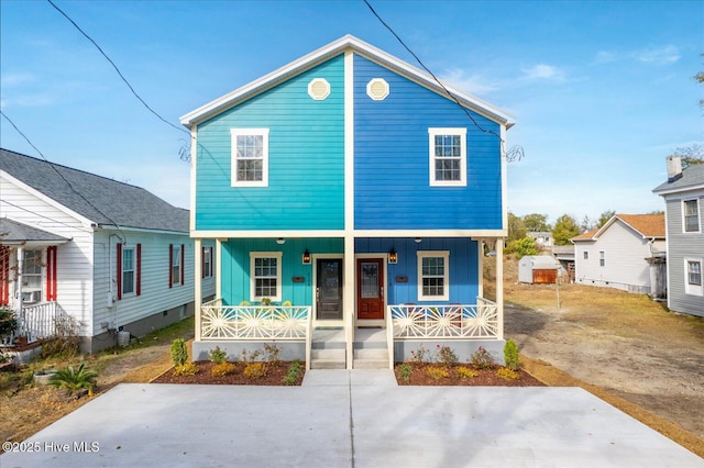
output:
POLYGON ((193 315, 195 274, 215 296, 215 244, 195 268, 188 223, 140 187, 0 149, 0 305, 21 311, 15 335, 50 336, 68 315, 96 352, 193 315))

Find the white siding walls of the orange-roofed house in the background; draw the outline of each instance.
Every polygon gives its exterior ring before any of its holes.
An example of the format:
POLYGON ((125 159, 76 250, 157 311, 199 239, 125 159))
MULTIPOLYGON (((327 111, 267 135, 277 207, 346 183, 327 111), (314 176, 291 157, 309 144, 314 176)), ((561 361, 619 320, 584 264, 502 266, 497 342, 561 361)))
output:
MULTIPOLYGON (((663 248, 662 244, 659 244, 663 248)), ((607 286, 625 291, 650 292, 651 257, 647 238, 616 220, 596 241, 576 242, 574 249, 575 281, 607 286), (584 252, 588 259, 584 259, 584 252), (600 266, 601 252, 604 266, 600 266)))

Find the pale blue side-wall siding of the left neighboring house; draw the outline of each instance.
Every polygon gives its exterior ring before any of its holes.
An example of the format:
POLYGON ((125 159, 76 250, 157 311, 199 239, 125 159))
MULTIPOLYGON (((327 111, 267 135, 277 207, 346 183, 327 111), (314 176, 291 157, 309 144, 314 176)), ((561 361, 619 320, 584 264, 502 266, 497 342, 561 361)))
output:
MULTIPOLYGON (((129 331, 129 324, 151 315, 163 313, 170 309, 188 304, 194 301, 194 241, 187 234, 164 234, 148 232, 121 232, 127 237, 127 247, 141 244, 141 294, 123 294, 122 299, 109 304, 109 297, 117 293, 117 244, 118 234, 113 231, 101 231, 96 239, 96 270, 95 270, 95 326, 94 334, 100 334, 106 330, 102 323, 110 323, 116 327, 124 326, 129 331), (174 281, 169 288, 169 245, 175 248, 184 245, 185 282, 174 281), (112 289, 110 283, 112 282, 112 289)), ((215 292, 215 289, 211 293, 215 292)))

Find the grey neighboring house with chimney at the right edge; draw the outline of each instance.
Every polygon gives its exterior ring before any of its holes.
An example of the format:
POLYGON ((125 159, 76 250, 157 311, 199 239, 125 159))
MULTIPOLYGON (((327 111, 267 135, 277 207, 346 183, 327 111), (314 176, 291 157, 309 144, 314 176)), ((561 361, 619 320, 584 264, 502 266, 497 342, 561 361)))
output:
POLYGON ((668 157, 668 181, 652 190, 664 199, 668 230, 668 309, 704 316, 704 164, 682 169, 668 157))

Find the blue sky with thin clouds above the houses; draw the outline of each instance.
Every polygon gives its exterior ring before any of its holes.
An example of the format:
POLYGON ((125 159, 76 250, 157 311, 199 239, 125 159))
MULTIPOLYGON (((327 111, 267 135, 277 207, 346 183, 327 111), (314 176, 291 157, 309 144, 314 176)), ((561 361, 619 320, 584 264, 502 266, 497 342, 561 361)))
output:
MULTIPOLYGON (((664 158, 704 142, 704 2, 370 0, 441 79, 513 114, 508 207, 578 221, 663 210, 664 158)), ((62 1, 178 118, 345 34, 418 66, 359 1, 62 1)), ((0 105, 47 159, 188 208, 187 135, 48 2, 0 0, 0 105)), ((37 153, 0 118, 0 146, 37 153)))

